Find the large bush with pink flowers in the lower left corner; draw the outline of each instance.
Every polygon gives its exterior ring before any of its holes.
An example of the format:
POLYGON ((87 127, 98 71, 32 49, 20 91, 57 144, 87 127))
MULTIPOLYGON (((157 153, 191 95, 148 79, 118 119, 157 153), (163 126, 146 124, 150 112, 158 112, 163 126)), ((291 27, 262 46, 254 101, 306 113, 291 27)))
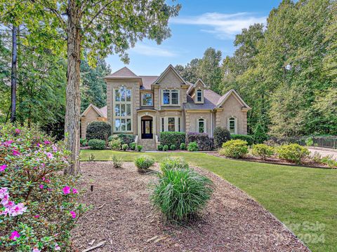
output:
POLYGON ((70 230, 86 210, 70 153, 37 129, 0 126, 0 251, 68 251, 70 230))

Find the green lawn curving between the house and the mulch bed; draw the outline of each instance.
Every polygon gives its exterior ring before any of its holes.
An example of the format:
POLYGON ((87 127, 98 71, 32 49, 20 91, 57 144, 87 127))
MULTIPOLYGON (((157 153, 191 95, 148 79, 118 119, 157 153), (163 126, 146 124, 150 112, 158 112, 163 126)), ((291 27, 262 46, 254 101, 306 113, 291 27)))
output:
MULTIPOLYGON (((81 160, 88 160, 91 153, 95 155, 95 160, 111 160, 112 155, 117 155, 125 161, 133 161, 140 155, 117 151, 81 151, 81 160)), ((222 176, 285 223, 312 251, 336 251, 337 169, 227 160, 206 153, 146 154, 157 161, 169 155, 181 156, 191 165, 222 176)))

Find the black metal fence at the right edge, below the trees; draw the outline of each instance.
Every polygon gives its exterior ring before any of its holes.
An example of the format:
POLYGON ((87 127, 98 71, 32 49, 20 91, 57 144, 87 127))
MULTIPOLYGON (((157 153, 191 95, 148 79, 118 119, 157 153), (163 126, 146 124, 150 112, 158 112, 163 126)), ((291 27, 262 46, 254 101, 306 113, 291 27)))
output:
POLYGON ((301 146, 318 146, 337 149, 337 136, 332 137, 282 137, 273 139, 278 144, 291 143, 301 146))

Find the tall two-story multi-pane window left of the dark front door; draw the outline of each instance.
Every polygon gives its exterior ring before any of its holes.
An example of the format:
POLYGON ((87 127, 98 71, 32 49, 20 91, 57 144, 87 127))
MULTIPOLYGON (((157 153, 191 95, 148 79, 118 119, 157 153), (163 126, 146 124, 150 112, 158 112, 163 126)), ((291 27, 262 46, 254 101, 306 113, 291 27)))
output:
POLYGON ((131 132, 131 89, 114 89, 114 132, 131 132))

